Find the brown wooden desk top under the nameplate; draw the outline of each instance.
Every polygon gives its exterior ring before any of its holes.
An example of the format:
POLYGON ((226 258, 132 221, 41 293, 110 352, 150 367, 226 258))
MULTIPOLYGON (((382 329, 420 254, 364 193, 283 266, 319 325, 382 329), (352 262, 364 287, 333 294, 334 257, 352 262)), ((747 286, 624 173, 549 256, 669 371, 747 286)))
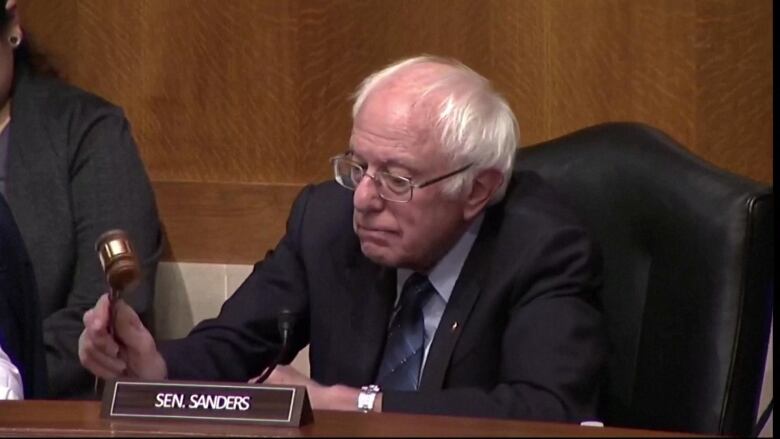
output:
POLYGON ((581 427, 400 413, 315 411, 301 428, 215 422, 123 421, 100 417, 97 401, 0 401, 0 436, 681 436, 648 430, 581 427))

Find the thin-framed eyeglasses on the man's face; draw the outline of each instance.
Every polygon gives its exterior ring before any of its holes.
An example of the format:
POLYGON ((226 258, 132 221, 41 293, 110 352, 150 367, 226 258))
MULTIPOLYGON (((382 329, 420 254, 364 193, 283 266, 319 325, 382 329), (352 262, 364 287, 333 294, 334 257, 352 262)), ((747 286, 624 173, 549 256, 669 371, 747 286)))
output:
POLYGON ((396 203, 408 203, 412 200, 414 189, 422 189, 425 186, 438 183, 444 179, 460 174, 471 167, 471 163, 469 163, 450 173, 426 180, 422 183, 415 183, 410 178, 401 177, 400 175, 394 175, 389 172, 377 172, 374 175, 371 175, 367 172, 365 165, 361 165, 360 163, 351 160, 347 154, 332 157, 330 162, 333 164, 333 174, 336 181, 341 186, 354 191, 357 189, 360 182, 363 181, 363 177, 370 177, 376 184, 379 196, 387 201, 396 203))

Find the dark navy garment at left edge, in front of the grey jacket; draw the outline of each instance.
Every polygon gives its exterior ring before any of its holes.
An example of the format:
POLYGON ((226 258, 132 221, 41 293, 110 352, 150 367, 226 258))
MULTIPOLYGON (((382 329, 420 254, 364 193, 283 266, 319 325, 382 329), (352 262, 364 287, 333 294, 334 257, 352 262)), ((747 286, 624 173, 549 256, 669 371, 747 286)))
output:
POLYGON ((46 398, 38 292, 13 215, 0 195, 0 346, 19 369, 24 398, 46 398))

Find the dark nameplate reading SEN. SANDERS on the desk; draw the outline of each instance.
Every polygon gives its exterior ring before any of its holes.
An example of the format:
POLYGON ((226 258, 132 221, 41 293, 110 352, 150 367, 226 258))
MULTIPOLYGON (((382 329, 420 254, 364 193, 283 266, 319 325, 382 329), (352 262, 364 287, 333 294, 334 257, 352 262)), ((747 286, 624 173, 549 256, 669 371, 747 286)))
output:
POLYGON ((100 415, 287 427, 313 421, 305 386, 203 381, 109 381, 100 415))

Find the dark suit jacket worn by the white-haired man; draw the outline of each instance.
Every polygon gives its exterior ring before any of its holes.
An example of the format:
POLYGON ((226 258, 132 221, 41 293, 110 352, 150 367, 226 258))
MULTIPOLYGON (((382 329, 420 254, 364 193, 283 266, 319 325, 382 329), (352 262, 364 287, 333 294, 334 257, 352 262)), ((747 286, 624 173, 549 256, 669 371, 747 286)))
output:
MULTIPOLYGON (((536 174, 516 172, 505 200, 486 212, 430 347, 420 391, 386 391, 383 409, 592 419, 606 350, 594 304, 600 270, 598 251, 573 214, 536 174)), ((395 269, 360 252, 352 192, 334 182, 307 187, 286 235, 219 316, 184 339, 162 343, 169 377, 258 375, 278 350, 276 317, 286 307, 300 315, 290 357, 310 343, 313 379, 372 383, 395 281, 395 269)))

